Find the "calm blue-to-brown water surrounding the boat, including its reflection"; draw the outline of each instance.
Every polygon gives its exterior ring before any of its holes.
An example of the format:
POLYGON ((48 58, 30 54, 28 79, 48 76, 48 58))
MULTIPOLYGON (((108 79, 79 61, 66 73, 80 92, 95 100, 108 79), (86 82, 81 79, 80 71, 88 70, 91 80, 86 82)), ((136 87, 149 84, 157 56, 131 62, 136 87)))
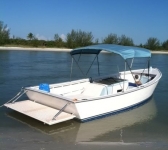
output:
MULTIPOLYGON (((81 59, 83 72, 87 72, 93 58, 81 59)), ((99 61, 102 75, 123 69, 124 63, 117 55, 104 53, 99 61)), ((70 63, 66 52, 1 50, 0 105, 15 96, 21 87, 69 81, 70 63)), ((137 60, 133 67, 144 65, 137 60)), ((153 97, 144 105, 117 115, 86 123, 72 120, 48 126, 0 108, 0 150, 168 149, 168 55, 152 55, 151 66, 163 74, 153 97)), ((88 76, 95 76, 96 62, 91 69, 88 76)), ((81 77, 74 65, 72 80, 81 77)))

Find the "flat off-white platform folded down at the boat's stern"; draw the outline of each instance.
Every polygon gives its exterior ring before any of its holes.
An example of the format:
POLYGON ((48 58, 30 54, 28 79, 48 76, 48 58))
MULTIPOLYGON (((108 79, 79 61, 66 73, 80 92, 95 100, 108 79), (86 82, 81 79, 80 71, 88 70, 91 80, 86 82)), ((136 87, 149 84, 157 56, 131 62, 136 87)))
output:
POLYGON ((54 116, 60 111, 31 100, 24 100, 15 103, 5 104, 6 107, 11 108, 15 111, 18 111, 22 114, 25 114, 29 117, 37 119, 44 124, 53 125, 67 120, 75 118, 74 115, 61 112, 56 119, 53 119, 54 116))

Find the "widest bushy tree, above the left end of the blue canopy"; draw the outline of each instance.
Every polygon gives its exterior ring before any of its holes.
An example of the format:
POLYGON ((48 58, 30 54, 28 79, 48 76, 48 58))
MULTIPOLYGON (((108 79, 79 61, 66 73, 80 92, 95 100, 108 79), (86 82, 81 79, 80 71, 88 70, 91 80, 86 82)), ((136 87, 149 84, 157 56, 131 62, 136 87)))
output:
POLYGON ((67 34, 67 46, 69 48, 75 48, 80 46, 88 46, 93 42, 92 32, 84 32, 81 30, 72 30, 71 33, 67 34))

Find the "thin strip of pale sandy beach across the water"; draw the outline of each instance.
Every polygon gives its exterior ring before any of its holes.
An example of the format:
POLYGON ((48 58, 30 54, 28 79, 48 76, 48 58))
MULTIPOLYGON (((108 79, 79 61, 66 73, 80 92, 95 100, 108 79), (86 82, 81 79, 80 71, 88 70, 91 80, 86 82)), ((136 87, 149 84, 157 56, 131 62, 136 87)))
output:
MULTIPOLYGON (((3 47, 0 50, 27 50, 27 51, 55 51, 55 52, 70 52, 69 48, 34 48, 34 47, 3 47)), ((152 54, 168 54, 168 51, 151 51, 152 54)))

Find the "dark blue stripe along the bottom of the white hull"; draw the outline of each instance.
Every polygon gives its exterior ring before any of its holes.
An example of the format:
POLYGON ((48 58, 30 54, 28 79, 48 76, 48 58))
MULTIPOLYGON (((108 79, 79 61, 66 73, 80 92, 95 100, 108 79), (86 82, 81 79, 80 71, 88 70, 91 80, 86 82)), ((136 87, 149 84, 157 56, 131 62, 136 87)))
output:
POLYGON ((88 118, 81 119, 81 120, 78 119, 78 118, 76 118, 76 119, 79 120, 80 122, 88 122, 88 121, 92 121, 92 120, 96 120, 96 119, 101 119, 101 118, 104 118, 104 117, 108 117, 108 116, 111 116, 111 115, 115 115, 115 114, 118 114, 118 113, 121 113, 121 112, 125 112, 125 111, 128 111, 128 110, 140 107, 140 106, 146 104, 148 101, 150 101, 151 98, 152 98, 152 95, 149 98, 141 101, 140 103, 136 103, 136 104, 131 105, 129 107, 125 107, 125 108, 122 108, 122 109, 119 109, 119 110, 116 110, 116 111, 111 111, 111 112, 108 112, 108 113, 104 113, 104 114, 101 114, 101 115, 88 117, 88 118))

